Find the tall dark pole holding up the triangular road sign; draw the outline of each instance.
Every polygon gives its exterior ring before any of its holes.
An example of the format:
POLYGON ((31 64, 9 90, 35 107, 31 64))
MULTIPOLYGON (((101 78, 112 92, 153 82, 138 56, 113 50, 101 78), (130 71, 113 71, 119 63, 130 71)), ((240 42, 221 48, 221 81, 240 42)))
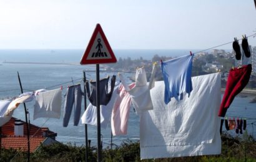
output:
POLYGON ((97 156, 98 156, 98 162, 101 161, 101 115, 100 115, 100 102, 99 102, 99 64, 96 64, 96 98, 97 98, 97 141, 98 141, 98 145, 97 145, 97 156))

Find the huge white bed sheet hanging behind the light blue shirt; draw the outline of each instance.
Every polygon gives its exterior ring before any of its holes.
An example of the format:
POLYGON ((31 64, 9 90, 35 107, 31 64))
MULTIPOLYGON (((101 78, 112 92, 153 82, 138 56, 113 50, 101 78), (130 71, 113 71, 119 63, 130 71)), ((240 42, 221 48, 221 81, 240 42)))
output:
POLYGON ((220 74, 192 77, 190 97, 164 103, 164 82, 150 90, 154 110, 140 114, 140 158, 218 155, 220 74))

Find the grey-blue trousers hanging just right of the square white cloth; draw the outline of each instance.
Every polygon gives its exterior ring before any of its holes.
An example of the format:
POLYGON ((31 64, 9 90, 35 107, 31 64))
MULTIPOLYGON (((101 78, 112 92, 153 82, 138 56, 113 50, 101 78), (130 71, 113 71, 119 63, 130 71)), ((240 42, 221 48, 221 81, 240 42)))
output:
POLYGON ((63 126, 67 127, 74 105, 74 126, 77 126, 81 115, 82 90, 80 84, 67 88, 64 104, 63 126))

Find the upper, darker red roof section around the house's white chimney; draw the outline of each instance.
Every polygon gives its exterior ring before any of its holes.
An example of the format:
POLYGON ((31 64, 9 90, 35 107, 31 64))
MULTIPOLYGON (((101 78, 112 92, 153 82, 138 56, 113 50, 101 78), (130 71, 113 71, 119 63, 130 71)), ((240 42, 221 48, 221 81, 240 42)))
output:
MULTIPOLYGON (((9 122, 7 122, 5 125, 2 125, 2 135, 14 135, 14 123, 16 118, 12 117, 9 122)), ((27 125, 26 122, 22 121, 24 124, 24 136, 27 136, 27 125)), ((30 136, 42 136, 42 132, 48 130, 48 135, 53 135, 54 132, 50 131, 48 128, 40 128, 39 126, 30 124, 30 136)), ((57 135, 55 135, 57 136, 57 135)))

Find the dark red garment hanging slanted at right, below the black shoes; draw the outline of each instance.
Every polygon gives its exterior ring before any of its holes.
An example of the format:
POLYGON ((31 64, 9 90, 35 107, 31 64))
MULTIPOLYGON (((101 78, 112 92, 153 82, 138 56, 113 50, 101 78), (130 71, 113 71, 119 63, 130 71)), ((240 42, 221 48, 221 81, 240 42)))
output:
POLYGON ((233 102, 235 96, 239 94, 247 85, 252 72, 252 65, 243 65, 241 68, 230 69, 227 79, 227 86, 220 104, 219 117, 225 117, 227 108, 233 102))

